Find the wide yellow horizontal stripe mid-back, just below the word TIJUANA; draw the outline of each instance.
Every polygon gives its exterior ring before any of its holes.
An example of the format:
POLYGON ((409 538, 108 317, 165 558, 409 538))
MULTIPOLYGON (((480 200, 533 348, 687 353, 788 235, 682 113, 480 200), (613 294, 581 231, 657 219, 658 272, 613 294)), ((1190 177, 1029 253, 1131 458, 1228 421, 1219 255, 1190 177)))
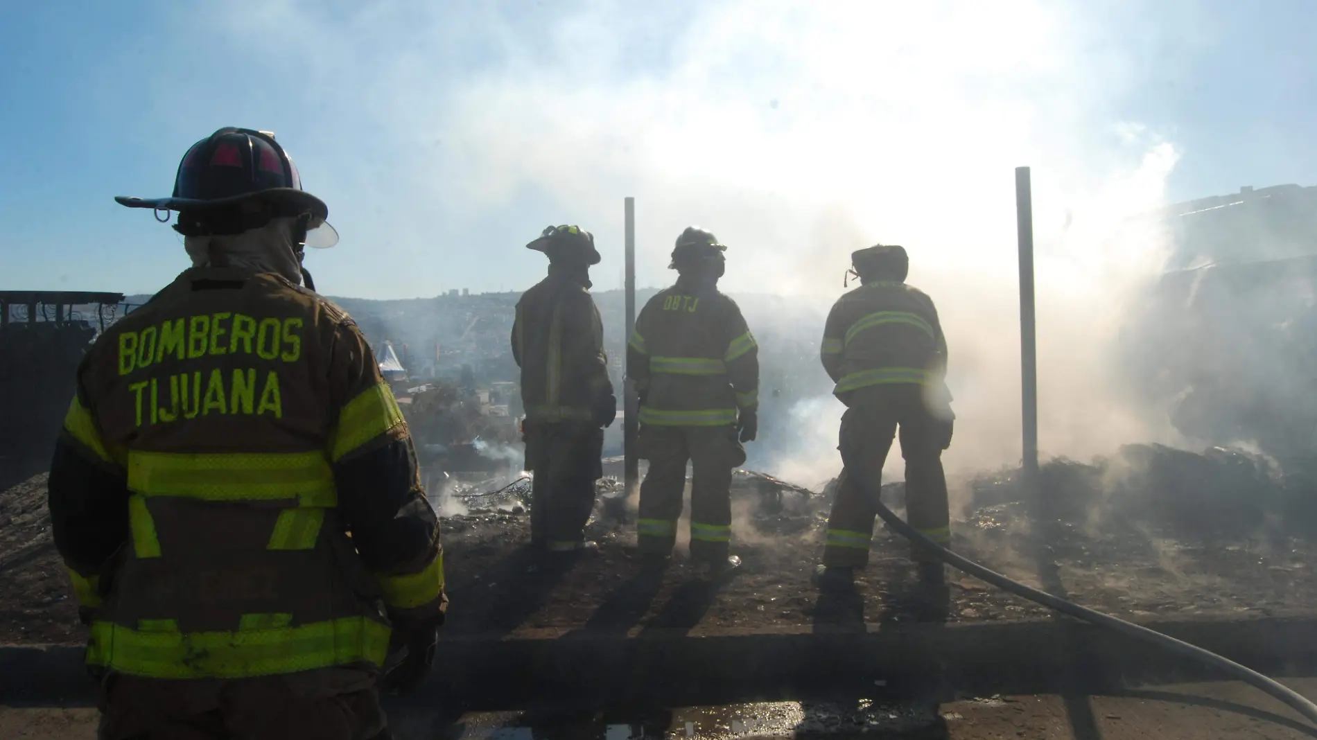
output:
POLYGON ((336 506, 333 470, 323 452, 128 454, 128 487, 144 496, 277 500, 336 506))

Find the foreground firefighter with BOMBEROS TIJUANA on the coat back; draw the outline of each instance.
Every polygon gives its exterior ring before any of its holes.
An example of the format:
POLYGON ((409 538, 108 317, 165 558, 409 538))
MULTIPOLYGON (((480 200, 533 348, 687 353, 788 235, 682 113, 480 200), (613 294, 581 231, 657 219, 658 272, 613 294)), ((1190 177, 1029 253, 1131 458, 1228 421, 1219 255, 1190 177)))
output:
POLYGON ((116 200, 178 212, 191 267, 87 352, 50 469, 100 737, 390 737, 378 690, 429 670, 443 550, 370 346, 303 284, 328 208, 238 128, 173 198, 116 200))

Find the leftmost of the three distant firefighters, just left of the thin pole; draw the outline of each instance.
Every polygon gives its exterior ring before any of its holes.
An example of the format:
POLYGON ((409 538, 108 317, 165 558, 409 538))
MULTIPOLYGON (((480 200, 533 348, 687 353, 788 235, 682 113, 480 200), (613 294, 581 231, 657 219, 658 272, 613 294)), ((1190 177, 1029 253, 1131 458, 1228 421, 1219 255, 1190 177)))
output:
POLYGON ((603 477, 603 428, 618 416, 603 324, 590 298, 594 236, 549 226, 528 249, 549 257, 549 275, 522 295, 512 357, 522 367, 525 469, 532 471, 531 544, 549 552, 594 550, 585 524, 603 477))

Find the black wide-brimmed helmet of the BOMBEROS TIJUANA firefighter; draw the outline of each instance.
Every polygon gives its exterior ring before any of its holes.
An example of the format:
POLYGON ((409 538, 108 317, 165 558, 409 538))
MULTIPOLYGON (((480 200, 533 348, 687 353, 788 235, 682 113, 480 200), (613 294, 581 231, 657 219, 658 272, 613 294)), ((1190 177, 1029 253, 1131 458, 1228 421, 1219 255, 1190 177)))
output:
POLYGON ((302 176, 270 132, 225 126, 183 155, 170 198, 116 196, 129 208, 178 211, 179 232, 240 233, 275 217, 306 217, 307 246, 328 248, 338 233, 325 201, 302 190, 302 176))

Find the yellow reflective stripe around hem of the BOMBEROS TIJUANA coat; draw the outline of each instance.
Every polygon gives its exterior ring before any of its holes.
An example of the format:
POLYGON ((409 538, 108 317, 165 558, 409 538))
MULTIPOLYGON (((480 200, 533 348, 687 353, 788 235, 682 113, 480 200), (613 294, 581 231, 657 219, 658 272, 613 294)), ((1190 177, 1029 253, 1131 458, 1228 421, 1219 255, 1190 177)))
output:
POLYGON ((385 662, 387 625, 363 616, 233 632, 138 631, 96 621, 87 664, 146 678, 252 678, 385 662))

